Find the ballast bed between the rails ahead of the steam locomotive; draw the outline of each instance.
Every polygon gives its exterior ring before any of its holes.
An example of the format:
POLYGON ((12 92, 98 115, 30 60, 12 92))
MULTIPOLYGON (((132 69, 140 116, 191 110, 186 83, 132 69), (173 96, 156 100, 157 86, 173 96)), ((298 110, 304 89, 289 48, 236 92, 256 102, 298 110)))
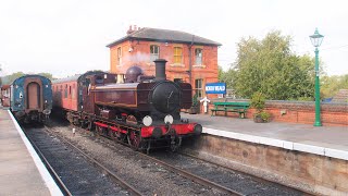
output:
POLYGON ((178 168, 185 172, 207 179, 207 181, 220 186, 233 189, 238 195, 303 195, 303 192, 265 181, 243 172, 227 169, 219 164, 199 159, 185 154, 164 154, 158 151, 151 154, 154 161, 178 168))

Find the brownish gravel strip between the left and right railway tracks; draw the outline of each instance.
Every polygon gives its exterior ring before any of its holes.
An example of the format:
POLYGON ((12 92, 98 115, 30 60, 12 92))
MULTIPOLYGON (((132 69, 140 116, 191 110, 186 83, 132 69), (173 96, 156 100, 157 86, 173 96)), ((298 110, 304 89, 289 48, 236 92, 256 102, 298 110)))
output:
POLYGON ((142 159, 128 147, 92 136, 90 132, 76 128, 73 135, 72 125, 52 122, 51 126, 144 195, 224 195, 142 159))

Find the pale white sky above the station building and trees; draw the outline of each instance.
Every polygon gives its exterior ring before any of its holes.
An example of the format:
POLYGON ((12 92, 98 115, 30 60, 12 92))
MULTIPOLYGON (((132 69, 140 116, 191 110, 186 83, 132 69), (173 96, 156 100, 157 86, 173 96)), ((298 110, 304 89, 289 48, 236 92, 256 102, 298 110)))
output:
MULTIPOLYGON (((64 77, 110 69, 105 46, 129 25, 191 33, 223 46, 227 70, 237 42, 272 30, 293 38, 297 54, 314 57, 309 36, 324 35, 320 58, 328 75, 348 74, 347 0, 0 0, 2 75, 49 72, 64 77)), ((313 65, 314 69, 314 65, 313 65)))

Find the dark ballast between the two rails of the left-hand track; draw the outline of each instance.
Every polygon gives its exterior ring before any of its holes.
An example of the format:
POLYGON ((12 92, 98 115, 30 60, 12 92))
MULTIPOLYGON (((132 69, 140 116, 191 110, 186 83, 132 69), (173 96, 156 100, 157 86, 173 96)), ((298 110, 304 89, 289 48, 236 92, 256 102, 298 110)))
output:
POLYGON ((25 131, 73 195, 128 195, 44 127, 25 131))

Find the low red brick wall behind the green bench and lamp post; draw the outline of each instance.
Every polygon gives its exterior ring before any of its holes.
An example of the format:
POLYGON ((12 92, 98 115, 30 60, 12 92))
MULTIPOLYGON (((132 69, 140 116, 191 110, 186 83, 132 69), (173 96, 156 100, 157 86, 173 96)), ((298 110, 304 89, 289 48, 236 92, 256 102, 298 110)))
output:
MULTIPOLYGON (((214 101, 247 101, 246 99, 214 99, 214 101)), ((212 109, 214 106, 209 106, 212 109)), ((313 124, 315 119, 314 101, 266 101, 265 111, 271 113, 271 121, 276 122, 293 122, 313 124)), ((252 119, 254 109, 250 108, 247 112, 247 118, 252 119)), ((209 110, 209 114, 211 111, 209 110)), ((217 112, 219 115, 224 115, 224 112, 217 112)), ((228 113, 228 117, 238 118, 237 113, 228 113)), ((348 126, 348 103, 333 102, 321 103, 321 120, 323 125, 347 125, 348 126)))

